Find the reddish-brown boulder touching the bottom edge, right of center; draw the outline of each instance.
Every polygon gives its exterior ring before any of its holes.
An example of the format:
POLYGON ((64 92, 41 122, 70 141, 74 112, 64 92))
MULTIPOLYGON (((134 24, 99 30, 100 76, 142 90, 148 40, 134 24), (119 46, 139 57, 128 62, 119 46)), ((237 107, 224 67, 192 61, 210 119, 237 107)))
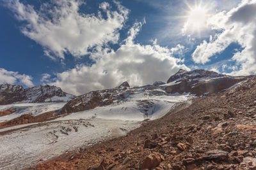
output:
POLYGON ((157 153, 152 153, 148 155, 142 162, 140 169, 152 169, 159 166, 161 163, 161 158, 157 153))

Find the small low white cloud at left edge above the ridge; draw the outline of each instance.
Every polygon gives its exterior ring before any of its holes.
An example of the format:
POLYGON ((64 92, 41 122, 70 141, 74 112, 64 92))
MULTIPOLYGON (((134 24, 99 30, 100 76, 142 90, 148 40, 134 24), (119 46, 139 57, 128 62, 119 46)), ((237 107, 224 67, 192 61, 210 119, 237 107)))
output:
POLYGON ((32 87, 32 77, 26 74, 19 74, 15 71, 7 71, 6 69, 0 68, 0 83, 15 84, 17 82, 23 83, 27 87, 32 87))

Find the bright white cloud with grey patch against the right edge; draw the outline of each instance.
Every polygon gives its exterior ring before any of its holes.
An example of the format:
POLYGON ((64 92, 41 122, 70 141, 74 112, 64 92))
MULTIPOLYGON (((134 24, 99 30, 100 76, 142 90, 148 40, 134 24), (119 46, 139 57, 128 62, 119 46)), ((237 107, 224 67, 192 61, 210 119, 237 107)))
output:
POLYGON ((196 63, 205 64, 230 43, 238 43, 243 50, 234 53, 236 62, 232 75, 256 74, 256 1, 244 0, 230 11, 221 11, 208 21, 212 29, 221 33, 197 46, 192 57, 196 63))

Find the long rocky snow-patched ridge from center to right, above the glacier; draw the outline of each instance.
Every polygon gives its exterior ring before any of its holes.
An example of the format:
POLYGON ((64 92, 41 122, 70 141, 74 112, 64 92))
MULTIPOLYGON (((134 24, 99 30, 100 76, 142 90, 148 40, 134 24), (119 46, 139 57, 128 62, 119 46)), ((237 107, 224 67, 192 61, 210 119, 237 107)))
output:
POLYGON ((156 81, 153 85, 130 87, 129 83, 125 81, 113 89, 97 90, 77 96, 65 104, 61 112, 74 113, 111 104, 117 105, 134 102, 132 104, 133 108, 137 108, 146 115, 152 115, 157 111, 156 104, 159 101, 168 102, 169 96, 184 93, 202 96, 221 92, 221 90, 228 89, 232 85, 246 80, 246 78, 231 77, 202 69, 194 71, 180 69, 169 78, 167 83, 156 81))

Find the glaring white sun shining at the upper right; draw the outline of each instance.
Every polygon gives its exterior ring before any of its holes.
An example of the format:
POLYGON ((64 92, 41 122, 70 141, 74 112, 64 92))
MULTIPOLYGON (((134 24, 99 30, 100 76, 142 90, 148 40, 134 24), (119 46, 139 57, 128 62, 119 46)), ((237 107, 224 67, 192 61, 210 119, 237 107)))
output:
POLYGON ((183 33, 193 34, 195 32, 200 32, 207 27, 207 18, 209 18, 209 8, 205 5, 202 5, 202 1, 199 4, 195 3, 195 6, 191 6, 186 3, 188 10, 186 15, 182 18, 185 18, 184 27, 182 29, 183 33))

